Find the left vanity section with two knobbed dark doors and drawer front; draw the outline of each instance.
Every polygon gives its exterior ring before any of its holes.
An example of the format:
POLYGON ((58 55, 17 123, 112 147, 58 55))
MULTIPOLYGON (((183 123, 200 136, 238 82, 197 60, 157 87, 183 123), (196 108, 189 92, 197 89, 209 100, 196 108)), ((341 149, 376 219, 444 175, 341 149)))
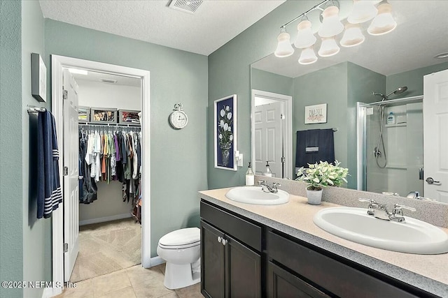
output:
POLYGON ((202 295, 262 297, 259 226, 201 202, 201 241, 202 295))

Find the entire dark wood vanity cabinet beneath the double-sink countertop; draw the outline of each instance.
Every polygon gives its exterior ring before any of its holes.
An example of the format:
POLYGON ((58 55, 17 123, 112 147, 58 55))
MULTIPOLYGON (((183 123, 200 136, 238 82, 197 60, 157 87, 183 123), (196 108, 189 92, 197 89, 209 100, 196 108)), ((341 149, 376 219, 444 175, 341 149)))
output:
POLYGON ((201 241, 205 297, 437 297, 204 200, 201 241))

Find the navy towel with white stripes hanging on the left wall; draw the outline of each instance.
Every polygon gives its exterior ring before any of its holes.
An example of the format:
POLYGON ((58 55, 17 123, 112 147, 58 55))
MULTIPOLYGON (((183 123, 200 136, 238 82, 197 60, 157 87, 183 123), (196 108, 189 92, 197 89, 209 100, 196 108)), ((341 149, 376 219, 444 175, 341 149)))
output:
POLYGON ((37 128, 37 218, 49 218, 62 202, 55 118, 39 112, 37 128))

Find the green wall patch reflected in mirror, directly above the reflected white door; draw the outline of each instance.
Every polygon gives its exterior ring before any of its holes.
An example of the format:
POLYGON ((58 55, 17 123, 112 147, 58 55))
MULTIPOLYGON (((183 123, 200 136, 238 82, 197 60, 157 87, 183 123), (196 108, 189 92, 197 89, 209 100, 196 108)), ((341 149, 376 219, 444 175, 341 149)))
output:
POLYGON ((293 96, 293 81, 291 77, 251 68, 251 89, 293 96))

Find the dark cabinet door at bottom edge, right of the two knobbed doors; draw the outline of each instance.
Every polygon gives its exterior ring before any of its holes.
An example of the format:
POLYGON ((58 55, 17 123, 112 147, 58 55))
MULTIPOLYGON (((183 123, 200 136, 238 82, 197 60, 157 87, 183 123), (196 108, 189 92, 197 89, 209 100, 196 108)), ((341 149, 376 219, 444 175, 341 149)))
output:
POLYGON ((294 274, 269 262, 267 268, 267 297, 324 298, 330 297, 294 274))

